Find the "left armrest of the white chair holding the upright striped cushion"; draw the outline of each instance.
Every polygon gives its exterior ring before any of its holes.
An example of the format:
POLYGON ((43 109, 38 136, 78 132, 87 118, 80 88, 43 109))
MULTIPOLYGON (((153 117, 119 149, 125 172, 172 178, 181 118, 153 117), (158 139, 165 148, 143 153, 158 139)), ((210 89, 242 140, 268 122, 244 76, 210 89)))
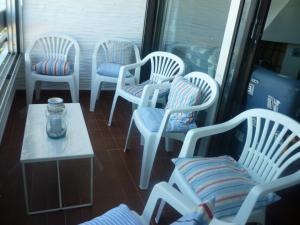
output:
POLYGON ((147 84, 142 92, 140 106, 149 106, 150 102, 150 107, 155 107, 158 99, 159 88, 170 88, 170 86, 170 83, 147 84))

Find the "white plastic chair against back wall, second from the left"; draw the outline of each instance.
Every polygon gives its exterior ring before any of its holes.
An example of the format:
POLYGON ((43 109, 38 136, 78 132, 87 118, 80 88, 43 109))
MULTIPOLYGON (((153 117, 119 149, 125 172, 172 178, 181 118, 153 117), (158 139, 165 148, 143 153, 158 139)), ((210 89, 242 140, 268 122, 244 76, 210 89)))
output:
MULTIPOLYGON (((103 82, 106 83, 114 83, 118 82, 118 77, 108 76, 107 74, 99 74, 97 72, 99 63, 109 62, 111 60, 109 56, 111 56, 113 51, 123 52, 123 56, 130 55, 129 59, 115 59, 114 63, 118 64, 132 64, 135 62, 139 62, 140 53, 138 47, 130 41, 124 39, 112 39, 107 40, 105 42, 99 42, 94 49, 93 59, 92 59, 92 76, 91 76, 91 98, 90 98, 90 111, 95 110, 95 105, 97 99, 99 99, 101 86, 103 82)), ((139 79, 140 76, 140 68, 136 68, 134 72, 134 76, 125 77, 125 83, 127 84, 135 84, 135 78, 139 79)))

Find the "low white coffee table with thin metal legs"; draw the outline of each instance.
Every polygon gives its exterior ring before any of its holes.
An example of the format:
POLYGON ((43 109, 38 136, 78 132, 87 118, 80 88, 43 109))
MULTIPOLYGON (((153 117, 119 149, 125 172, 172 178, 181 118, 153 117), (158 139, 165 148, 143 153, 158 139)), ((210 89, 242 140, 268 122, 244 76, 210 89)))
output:
POLYGON ((94 152, 87 132, 79 103, 66 104, 67 134, 62 139, 51 139, 46 133, 46 104, 29 105, 24 139, 21 152, 22 175, 25 191, 26 210, 28 214, 78 208, 93 204, 93 157, 94 152), (86 204, 63 206, 61 196, 61 178, 59 161, 90 158, 90 201, 86 204), (30 211, 26 181, 25 164, 56 161, 59 207, 39 211, 30 211))

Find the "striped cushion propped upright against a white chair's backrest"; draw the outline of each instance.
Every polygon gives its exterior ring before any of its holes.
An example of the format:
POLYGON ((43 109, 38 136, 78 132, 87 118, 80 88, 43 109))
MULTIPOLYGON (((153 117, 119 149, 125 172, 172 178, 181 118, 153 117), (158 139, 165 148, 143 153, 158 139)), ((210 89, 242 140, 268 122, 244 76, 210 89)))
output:
MULTIPOLYGON (((183 77, 176 77, 172 82, 166 109, 185 108, 199 104, 200 88, 183 77)), ((178 126, 187 126, 195 122, 197 112, 175 113, 170 121, 178 126)))

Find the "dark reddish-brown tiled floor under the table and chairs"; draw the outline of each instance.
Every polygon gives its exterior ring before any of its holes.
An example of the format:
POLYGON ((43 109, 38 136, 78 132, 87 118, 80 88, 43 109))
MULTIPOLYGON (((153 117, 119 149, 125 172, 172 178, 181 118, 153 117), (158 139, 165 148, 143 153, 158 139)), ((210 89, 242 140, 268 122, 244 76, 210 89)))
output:
MULTIPOLYGON (((47 98, 61 96, 70 102, 68 92, 42 92, 40 103, 47 98)), ((26 119, 25 92, 16 94, 6 131, 0 146, 0 224, 13 225, 72 225, 93 218, 106 210, 126 203, 141 212, 149 191, 139 190, 142 151, 137 132, 130 149, 124 153, 123 146, 131 115, 131 107, 125 101, 117 105, 112 127, 107 126, 112 93, 103 92, 95 112, 89 112, 89 93, 82 92, 80 103, 96 155, 94 168, 94 205, 52 213, 27 216, 25 213, 24 191, 19 163, 23 132, 26 119)), ((37 103, 37 102, 35 102, 37 103)), ((159 149, 151 177, 153 184, 167 180, 172 164, 170 158, 178 154, 180 144, 174 153, 159 149)), ((62 163, 63 199, 66 204, 84 202, 88 199, 88 162, 85 160, 62 163)), ((35 209, 56 206, 57 182, 53 163, 40 163, 27 167, 31 206, 35 209)), ((299 187, 284 193, 279 203, 268 208, 267 224, 299 225, 299 187)), ((173 210, 167 210, 160 224, 169 224, 177 217, 173 210)))

